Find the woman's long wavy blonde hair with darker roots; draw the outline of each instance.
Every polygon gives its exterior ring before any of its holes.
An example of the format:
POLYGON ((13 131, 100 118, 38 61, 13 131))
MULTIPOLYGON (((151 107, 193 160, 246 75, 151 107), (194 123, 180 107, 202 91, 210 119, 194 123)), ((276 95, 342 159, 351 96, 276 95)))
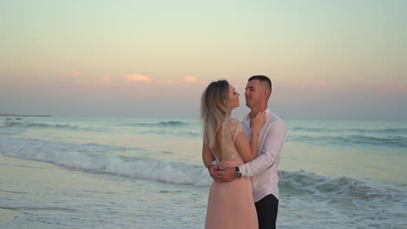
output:
POLYGON ((206 87, 201 97, 201 121, 203 142, 215 146, 215 133, 221 123, 230 116, 224 100, 229 99, 229 83, 225 79, 214 81, 206 87))

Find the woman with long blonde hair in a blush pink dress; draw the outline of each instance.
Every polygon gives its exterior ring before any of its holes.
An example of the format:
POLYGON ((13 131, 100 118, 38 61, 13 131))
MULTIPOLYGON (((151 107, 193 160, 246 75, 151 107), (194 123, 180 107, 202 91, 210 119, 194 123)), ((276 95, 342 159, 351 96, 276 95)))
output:
MULTIPOLYGON (((209 84, 201 97, 203 123, 202 159, 208 168, 217 160, 221 166, 235 167, 255 159, 257 139, 266 121, 265 112, 252 119, 250 143, 241 123, 233 119, 233 108, 239 106, 239 93, 228 81, 209 84)), ((231 182, 213 181, 209 190, 205 228, 258 228, 257 213, 248 177, 231 182)))

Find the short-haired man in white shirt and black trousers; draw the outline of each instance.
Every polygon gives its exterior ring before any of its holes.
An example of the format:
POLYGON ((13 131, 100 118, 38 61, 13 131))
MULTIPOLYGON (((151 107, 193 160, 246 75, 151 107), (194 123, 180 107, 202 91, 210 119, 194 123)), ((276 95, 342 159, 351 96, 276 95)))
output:
POLYGON ((210 176, 219 182, 229 182, 242 176, 251 178, 259 229, 276 226, 279 205, 277 168, 281 148, 287 137, 284 121, 268 109, 271 90, 270 79, 256 75, 248 79, 244 93, 250 113, 244 117, 241 124, 248 139, 251 132, 250 120, 258 112, 266 111, 267 120, 259 132, 257 157, 236 168, 217 166, 215 162, 209 167, 210 176))

